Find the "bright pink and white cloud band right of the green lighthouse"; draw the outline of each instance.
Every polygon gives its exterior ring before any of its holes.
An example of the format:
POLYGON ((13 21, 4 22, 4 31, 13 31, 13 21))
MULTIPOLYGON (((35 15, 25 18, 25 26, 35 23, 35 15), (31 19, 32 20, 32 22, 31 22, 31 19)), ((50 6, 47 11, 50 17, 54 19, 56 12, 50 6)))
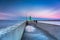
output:
POLYGON ((60 10, 52 10, 52 9, 45 9, 45 10, 33 10, 27 11, 24 13, 24 16, 32 16, 32 17, 39 17, 39 18, 60 18, 60 10))

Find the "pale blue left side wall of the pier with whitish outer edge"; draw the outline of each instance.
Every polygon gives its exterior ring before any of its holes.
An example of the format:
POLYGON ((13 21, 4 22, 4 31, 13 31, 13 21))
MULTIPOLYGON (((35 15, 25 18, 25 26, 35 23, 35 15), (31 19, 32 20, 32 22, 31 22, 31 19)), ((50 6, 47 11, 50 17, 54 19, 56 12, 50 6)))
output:
POLYGON ((25 23, 18 23, 0 30, 0 40, 21 40, 25 23))

